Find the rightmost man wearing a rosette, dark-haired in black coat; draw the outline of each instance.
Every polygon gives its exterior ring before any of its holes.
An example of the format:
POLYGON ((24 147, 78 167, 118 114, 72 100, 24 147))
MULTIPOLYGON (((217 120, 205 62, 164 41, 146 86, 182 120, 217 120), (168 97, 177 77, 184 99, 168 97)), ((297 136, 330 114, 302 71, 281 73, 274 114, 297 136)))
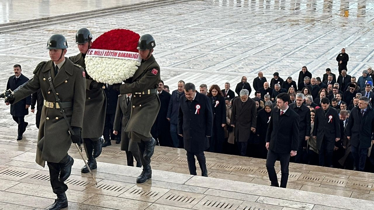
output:
POLYGON ((340 122, 336 109, 329 107, 328 98, 321 99, 322 108, 316 109, 313 137, 317 139, 319 165, 332 167, 332 152, 340 140, 340 122))

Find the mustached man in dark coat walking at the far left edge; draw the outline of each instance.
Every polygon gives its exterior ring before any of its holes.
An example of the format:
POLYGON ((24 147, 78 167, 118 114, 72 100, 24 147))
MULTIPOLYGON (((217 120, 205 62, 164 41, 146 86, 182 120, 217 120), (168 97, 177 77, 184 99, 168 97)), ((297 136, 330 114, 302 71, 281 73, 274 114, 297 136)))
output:
MULTIPOLYGON (((21 86, 28 81, 28 78, 25 77, 21 72, 21 65, 16 64, 13 66, 14 76, 10 76, 8 83, 6 84, 7 90, 15 90, 17 87, 21 86)), ((9 105, 8 102, 5 103, 9 105)), ((28 122, 25 122, 25 115, 28 115, 28 108, 31 104, 31 95, 22 99, 21 101, 10 105, 10 114, 13 117, 13 120, 18 124, 18 136, 17 140, 22 139, 22 135, 26 130, 28 122)))

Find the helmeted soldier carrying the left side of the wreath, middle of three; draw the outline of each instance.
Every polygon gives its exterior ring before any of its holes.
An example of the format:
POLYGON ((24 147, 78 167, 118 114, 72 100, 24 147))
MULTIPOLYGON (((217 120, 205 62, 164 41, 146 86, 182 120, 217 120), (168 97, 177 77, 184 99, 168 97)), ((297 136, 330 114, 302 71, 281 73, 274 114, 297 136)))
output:
MULTIPOLYGON (((87 28, 81 28, 75 35, 75 43, 78 44, 80 53, 69 59, 74 64, 79 64, 85 70, 86 74, 86 102, 85 114, 83 117, 82 138, 88 158, 90 169, 96 169, 96 159, 101 154, 102 132, 104 130, 105 111, 107 103, 105 93, 102 89, 104 83, 98 83, 93 80, 86 72, 85 57, 92 44, 92 34, 87 28)), ((83 166, 82 173, 88 173, 87 166, 83 166)))

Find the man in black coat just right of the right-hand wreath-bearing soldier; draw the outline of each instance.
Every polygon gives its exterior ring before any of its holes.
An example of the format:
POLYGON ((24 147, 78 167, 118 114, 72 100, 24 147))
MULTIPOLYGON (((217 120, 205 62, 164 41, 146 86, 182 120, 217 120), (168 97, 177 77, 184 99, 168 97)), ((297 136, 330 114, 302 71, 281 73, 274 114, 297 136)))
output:
POLYGON ((157 141, 158 145, 172 147, 173 142, 170 135, 170 122, 166 118, 171 95, 163 90, 163 84, 161 80, 159 82, 159 87, 157 87, 157 95, 159 96, 161 106, 156 121, 154 121, 151 128, 151 135, 157 141))

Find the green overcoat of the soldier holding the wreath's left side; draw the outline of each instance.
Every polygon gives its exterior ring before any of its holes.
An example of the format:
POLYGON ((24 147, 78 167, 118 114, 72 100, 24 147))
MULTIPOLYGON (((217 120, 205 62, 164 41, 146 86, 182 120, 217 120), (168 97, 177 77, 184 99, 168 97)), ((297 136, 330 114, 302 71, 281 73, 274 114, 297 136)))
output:
MULTIPOLYGON (((85 58, 82 53, 69 57, 86 71, 85 58)), ((99 138, 104 131, 107 102, 102 88, 90 89, 92 78, 86 72, 86 102, 83 117, 82 138, 99 138)))

